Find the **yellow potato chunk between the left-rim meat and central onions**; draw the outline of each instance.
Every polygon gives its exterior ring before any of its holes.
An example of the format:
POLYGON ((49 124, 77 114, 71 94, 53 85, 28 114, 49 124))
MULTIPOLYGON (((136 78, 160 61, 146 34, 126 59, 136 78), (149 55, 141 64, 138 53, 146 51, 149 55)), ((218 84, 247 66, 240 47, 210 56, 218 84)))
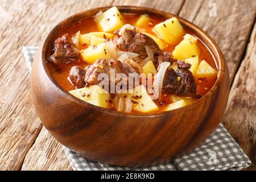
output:
POLYGON ((82 60, 87 64, 93 64, 94 61, 100 58, 109 58, 109 53, 105 47, 105 43, 98 44, 97 46, 90 46, 80 51, 82 60))

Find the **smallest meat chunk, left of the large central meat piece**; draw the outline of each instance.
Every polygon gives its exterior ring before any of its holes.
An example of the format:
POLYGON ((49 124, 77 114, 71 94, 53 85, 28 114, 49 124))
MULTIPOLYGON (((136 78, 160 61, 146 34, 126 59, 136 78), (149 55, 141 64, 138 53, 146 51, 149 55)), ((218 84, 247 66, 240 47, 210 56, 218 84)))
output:
POLYGON ((76 88, 83 88, 85 86, 85 69, 80 66, 72 67, 69 72, 69 79, 76 88))

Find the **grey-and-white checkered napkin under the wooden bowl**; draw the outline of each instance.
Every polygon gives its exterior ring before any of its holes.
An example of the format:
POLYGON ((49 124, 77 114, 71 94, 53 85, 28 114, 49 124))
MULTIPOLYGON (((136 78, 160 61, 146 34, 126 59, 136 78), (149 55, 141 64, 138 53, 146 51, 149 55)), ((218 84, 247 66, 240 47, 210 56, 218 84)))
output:
MULTIPOLYGON (((38 47, 22 47, 28 68, 38 47)), ((241 170, 250 166, 250 159, 242 151, 236 141, 230 136, 223 125, 219 125, 216 131, 196 150, 184 155, 172 162, 162 163, 147 167, 119 167, 102 164, 77 154, 64 147, 69 162, 74 170, 98 171, 98 170, 241 170)))

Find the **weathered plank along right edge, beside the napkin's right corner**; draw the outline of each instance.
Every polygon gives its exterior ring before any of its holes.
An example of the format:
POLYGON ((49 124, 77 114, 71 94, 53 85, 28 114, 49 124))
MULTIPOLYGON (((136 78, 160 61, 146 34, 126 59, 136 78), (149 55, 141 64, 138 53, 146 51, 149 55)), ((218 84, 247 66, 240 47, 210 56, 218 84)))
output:
POLYGON ((249 156, 256 170, 256 23, 246 50, 245 59, 234 79, 224 126, 249 156))

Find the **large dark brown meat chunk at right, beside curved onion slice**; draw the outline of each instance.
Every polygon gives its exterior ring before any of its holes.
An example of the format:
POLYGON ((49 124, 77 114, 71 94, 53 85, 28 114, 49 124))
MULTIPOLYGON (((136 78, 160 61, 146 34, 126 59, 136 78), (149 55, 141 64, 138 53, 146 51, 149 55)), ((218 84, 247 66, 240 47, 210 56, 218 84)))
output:
POLYGON ((177 71, 167 69, 162 92, 165 94, 176 94, 177 96, 196 97, 196 81, 189 68, 190 64, 177 61, 177 71))

